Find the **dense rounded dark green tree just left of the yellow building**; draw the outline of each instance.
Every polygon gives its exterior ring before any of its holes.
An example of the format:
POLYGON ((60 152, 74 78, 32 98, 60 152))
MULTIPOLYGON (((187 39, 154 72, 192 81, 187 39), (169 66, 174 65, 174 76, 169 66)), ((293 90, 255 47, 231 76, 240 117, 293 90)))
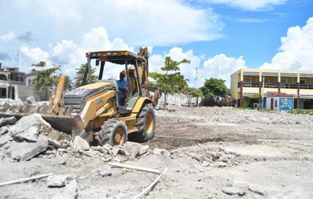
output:
POLYGON ((206 98, 225 97, 227 95, 225 82, 222 79, 210 78, 209 80, 205 80, 204 86, 200 90, 206 98))

